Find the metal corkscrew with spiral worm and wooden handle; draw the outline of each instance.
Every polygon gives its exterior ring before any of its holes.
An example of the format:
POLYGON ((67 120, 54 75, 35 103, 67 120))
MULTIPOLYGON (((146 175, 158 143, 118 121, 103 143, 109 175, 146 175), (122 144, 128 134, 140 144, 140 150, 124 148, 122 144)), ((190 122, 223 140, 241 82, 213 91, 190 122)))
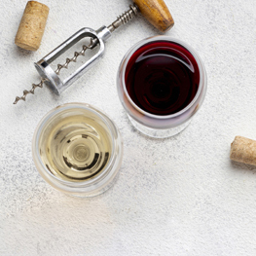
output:
POLYGON ((97 30, 93 30, 89 27, 82 28, 56 47, 49 55, 44 56, 38 62, 34 63, 41 76, 41 81, 38 84, 33 84, 30 91, 24 90, 21 97, 16 97, 14 104, 17 104, 19 100, 25 101, 27 94, 34 94, 36 88, 43 88, 43 84, 46 84, 57 95, 66 90, 71 84, 84 75, 85 72, 89 70, 91 66, 94 65, 104 54, 104 43, 110 38, 112 32, 135 17, 138 11, 140 11, 141 14, 150 21, 150 23, 162 32, 167 31, 174 24, 164 0, 133 0, 133 5, 129 6, 129 10, 118 17, 109 26, 101 26, 97 30), (80 52, 75 52, 71 58, 67 57, 63 64, 57 64, 55 70, 50 66, 57 57, 64 54, 68 49, 86 37, 91 38, 90 43, 83 45, 80 52), (79 56, 85 55, 86 51, 92 50, 96 46, 98 46, 98 51, 95 55, 92 55, 90 59, 72 72, 68 77, 60 79, 59 73, 62 68, 68 68, 71 62, 76 62, 79 56))

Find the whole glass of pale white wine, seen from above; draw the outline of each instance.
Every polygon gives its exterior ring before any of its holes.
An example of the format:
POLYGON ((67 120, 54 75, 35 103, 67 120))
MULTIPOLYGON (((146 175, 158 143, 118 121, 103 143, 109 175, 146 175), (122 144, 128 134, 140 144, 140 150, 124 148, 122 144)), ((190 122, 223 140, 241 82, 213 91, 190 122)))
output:
POLYGON ((84 103, 50 111, 35 130, 33 160, 55 189, 93 197, 115 181, 123 158, 123 140, 113 121, 84 103))

